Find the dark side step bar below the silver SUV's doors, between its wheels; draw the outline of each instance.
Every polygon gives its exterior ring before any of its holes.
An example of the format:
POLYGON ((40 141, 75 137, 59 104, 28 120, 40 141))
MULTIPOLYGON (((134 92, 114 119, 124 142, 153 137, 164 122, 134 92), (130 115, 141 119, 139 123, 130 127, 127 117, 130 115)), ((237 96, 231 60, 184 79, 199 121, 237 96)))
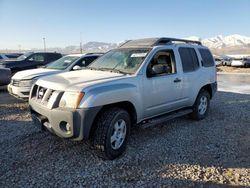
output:
POLYGON ((178 110, 176 112, 171 112, 171 113, 168 113, 166 115, 162 115, 162 116, 158 116, 158 117, 155 117, 155 118, 152 118, 149 120, 145 120, 141 123, 141 127, 142 128, 152 127, 152 126, 155 126, 157 124, 161 124, 163 122, 169 121, 171 119, 190 114, 192 112, 193 112, 192 109, 185 109, 185 110, 178 110))

